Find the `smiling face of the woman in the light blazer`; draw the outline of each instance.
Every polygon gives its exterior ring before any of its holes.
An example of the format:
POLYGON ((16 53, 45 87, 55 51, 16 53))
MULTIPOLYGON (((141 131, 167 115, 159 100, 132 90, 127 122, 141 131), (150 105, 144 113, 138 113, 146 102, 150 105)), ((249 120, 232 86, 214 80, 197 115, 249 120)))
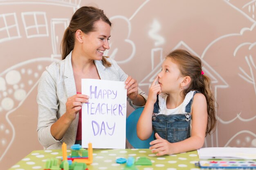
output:
POLYGON ((94 32, 83 33, 83 54, 92 60, 101 60, 103 53, 109 49, 110 25, 104 21, 94 23, 94 32))

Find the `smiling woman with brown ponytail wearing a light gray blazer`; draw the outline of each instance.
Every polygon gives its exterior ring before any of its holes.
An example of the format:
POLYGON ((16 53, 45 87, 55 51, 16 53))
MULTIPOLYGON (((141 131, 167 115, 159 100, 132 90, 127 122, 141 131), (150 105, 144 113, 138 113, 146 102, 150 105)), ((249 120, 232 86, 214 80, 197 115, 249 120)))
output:
POLYGON ((110 48, 110 27, 101 9, 81 7, 72 16, 61 43, 63 60, 47 67, 38 84, 37 131, 46 149, 81 143, 81 106, 90 100, 81 94, 81 78, 125 81, 130 105, 145 105, 146 95, 136 80, 103 56, 110 48))

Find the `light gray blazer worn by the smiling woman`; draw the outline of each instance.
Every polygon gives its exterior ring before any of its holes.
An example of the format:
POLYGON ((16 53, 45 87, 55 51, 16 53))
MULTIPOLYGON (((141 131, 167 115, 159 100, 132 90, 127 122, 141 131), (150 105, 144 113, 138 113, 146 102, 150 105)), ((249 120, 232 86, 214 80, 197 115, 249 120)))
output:
MULTIPOLYGON (((79 114, 67 129, 63 139, 58 141, 54 139, 50 128, 65 112, 67 98, 76 94, 76 85, 72 69, 72 51, 64 60, 52 63, 43 72, 39 84, 36 101, 38 103, 38 139, 45 149, 61 149, 63 142, 70 148, 76 141, 76 131, 79 120, 79 114)), ((108 58, 112 63, 111 67, 104 67, 102 62, 94 60, 99 76, 102 80, 125 81, 127 74, 117 65, 115 60, 108 58)), ((139 89, 139 94, 145 99, 146 94, 139 89)), ((129 98, 130 105, 135 109, 129 98)))

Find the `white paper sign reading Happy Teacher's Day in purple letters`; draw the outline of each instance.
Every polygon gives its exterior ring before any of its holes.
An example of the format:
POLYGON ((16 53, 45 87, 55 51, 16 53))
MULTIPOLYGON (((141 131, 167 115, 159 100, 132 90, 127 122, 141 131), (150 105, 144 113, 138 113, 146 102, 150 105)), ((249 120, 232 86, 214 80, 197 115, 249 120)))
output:
POLYGON ((90 96, 82 105, 82 147, 125 149, 125 83, 82 79, 82 94, 90 96))

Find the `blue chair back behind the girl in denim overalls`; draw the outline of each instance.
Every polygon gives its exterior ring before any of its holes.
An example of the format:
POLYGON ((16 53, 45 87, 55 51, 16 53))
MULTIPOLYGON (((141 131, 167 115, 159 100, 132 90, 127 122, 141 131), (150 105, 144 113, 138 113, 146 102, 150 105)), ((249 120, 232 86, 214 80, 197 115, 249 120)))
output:
POLYGON ((133 111, 130 116, 126 119, 126 138, 129 141, 129 143, 137 149, 145 149, 149 148, 149 143, 154 140, 154 133, 151 134, 151 136, 145 140, 141 141, 137 136, 137 122, 139 120, 139 116, 141 115, 144 107, 140 107, 133 111))

